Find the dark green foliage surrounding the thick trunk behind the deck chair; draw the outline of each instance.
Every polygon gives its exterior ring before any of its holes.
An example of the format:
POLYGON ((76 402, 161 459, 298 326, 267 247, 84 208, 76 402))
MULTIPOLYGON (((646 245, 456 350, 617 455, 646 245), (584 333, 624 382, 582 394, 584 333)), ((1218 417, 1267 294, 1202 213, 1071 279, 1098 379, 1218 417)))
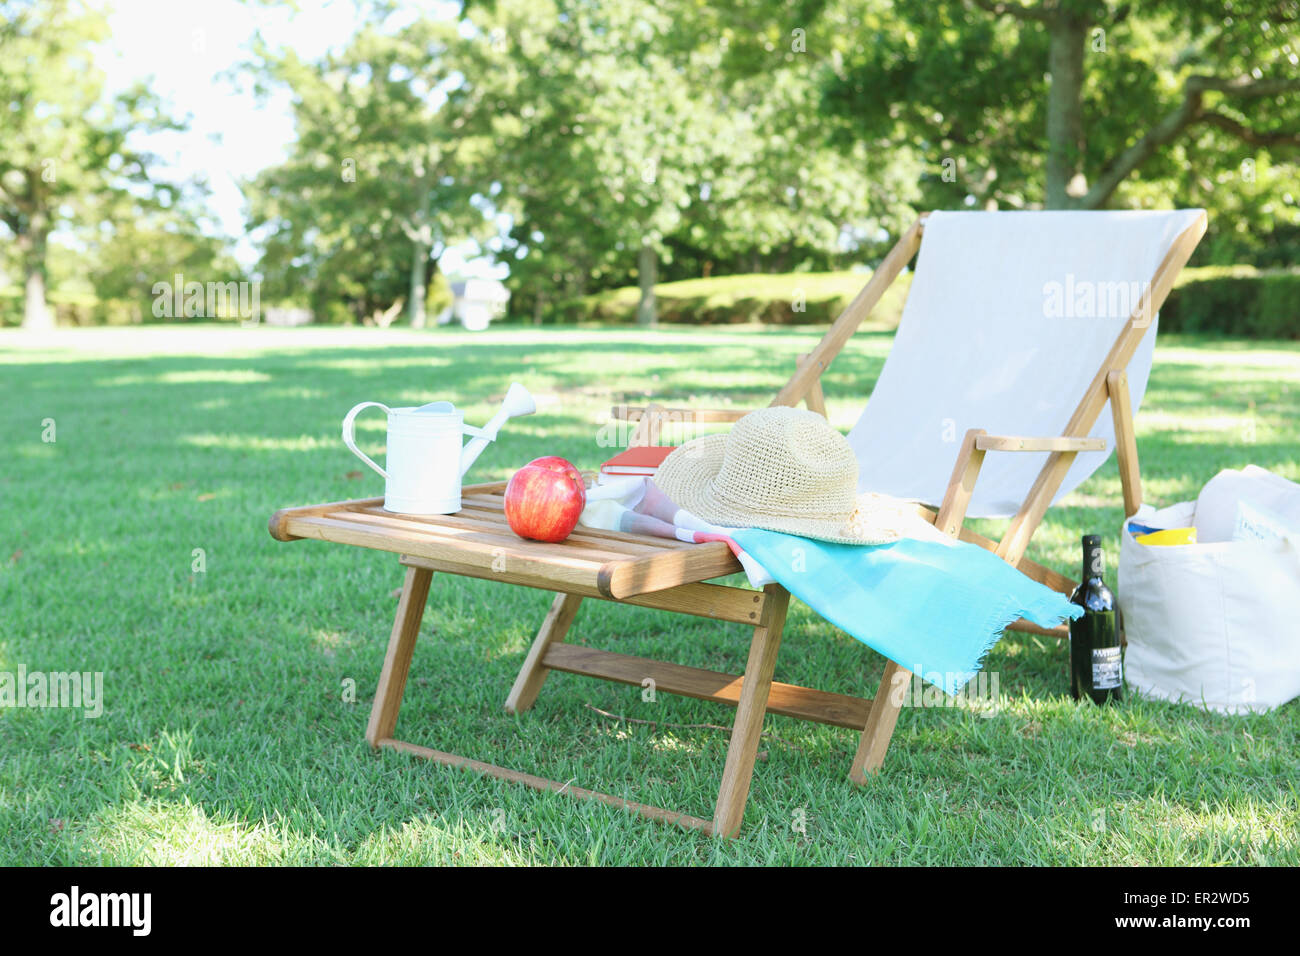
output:
POLYGON ((1083 25, 1075 38, 1084 51, 1076 187, 1096 186, 1138 150, 1140 161, 1098 200, 1104 207, 1209 209, 1197 264, 1280 264, 1288 260, 1273 245, 1295 250, 1295 3, 1247 10, 1217 0, 807 0, 797 13, 784 0, 740 5, 741 22, 762 29, 733 44, 732 69, 762 75, 789 61, 780 38, 805 29, 824 125, 844 143, 911 146, 919 204, 939 209, 1044 204, 1048 49, 1053 20, 1070 14, 1083 25), (1212 82, 1190 91, 1193 77, 1212 82))

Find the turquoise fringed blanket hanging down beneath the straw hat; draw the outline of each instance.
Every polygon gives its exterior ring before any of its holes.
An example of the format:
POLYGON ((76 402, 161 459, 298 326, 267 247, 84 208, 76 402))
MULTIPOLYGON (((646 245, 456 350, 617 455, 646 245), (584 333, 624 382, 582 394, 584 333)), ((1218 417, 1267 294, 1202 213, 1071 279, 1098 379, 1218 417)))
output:
POLYGON ((753 528, 732 536, 809 607, 946 693, 975 675, 1018 618, 1054 627, 1083 614, 963 541, 837 545, 753 528))

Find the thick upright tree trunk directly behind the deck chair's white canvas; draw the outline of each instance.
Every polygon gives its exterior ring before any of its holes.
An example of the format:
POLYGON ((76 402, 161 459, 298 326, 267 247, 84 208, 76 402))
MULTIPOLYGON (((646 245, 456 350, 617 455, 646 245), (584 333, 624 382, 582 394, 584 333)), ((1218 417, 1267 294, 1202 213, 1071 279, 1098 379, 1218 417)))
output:
POLYGON ((1083 55, 1088 23, 1069 13, 1048 22, 1046 208, 1069 209, 1088 191, 1083 174, 1083 55))

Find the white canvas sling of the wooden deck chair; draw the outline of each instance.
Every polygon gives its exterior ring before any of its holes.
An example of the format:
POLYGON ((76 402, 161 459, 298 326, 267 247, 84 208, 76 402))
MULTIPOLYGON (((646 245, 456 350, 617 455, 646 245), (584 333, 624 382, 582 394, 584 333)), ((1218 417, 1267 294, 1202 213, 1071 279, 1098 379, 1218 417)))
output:
MULTIPOLYGON (((859 489, 937 505, 962 437, 1061 436, 1173 243, 1200 209, 933 212, 902 321, 849 433, 859 489)), ((1147 390, 1154 319, 1127 364, 1131 405, 1147 390)), ((1053 502, 1109 458, 1110 415, 1088 432, 1053 502)), ((1017 512, 1048 453, 991 455, 971 518, 1017 512)))

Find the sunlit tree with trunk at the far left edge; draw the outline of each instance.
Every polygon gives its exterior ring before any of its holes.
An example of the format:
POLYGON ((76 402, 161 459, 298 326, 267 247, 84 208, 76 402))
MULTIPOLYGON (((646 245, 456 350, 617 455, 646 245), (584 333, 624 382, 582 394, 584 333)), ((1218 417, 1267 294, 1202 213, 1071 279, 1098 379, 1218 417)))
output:
POLYGON ((0 0, 0 221, 23 276, 23 328, 49 328, 51 233, 84 221, 87 206, 148 179, 152 157, 126 144, 131 129, 174 129, 143 90, 107 99, 94 44, 104 18, 75 0, 0 0))

